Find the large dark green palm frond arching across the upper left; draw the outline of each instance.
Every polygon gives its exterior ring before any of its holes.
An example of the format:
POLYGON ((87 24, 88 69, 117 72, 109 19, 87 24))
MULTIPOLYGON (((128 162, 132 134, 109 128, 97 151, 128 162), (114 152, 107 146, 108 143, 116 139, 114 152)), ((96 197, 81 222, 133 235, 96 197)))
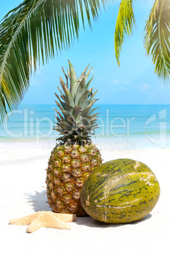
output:
POLYGON ((84 13, 91 27, 109 0, 24 0, 0 24, 0 124, 29 89, 32 64, 48 62, 79 38, 84 13), (81 15, 79 15, 79 11, 81 15))

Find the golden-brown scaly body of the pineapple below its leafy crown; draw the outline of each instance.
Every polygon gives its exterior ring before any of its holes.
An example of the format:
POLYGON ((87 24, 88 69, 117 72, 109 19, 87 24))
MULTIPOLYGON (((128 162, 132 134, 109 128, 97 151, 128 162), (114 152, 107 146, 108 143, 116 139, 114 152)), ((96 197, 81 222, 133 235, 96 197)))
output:
POLYGON ((101 154, 93 144, 56 145, 46 169, 48 204, 52 210, 77 216, 88 215, 81 206, 81 187, 100 165, 101 154))

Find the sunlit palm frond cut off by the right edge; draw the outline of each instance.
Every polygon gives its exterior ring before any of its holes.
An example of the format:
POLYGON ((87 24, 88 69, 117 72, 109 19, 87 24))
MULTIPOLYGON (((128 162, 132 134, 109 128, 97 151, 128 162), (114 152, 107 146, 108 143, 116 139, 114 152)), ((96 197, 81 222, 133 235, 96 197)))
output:
POLYGON ((155 0, 145 26, 145 50, 161 80, 170 80, 170 0, 155 0))

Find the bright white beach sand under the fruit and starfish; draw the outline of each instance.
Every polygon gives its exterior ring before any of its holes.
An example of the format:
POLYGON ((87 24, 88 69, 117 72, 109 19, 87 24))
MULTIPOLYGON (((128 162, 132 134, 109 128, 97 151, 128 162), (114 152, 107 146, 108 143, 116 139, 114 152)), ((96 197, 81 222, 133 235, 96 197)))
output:
POLYGON ((160 199, 143 220, 107 225, 79 217, 70 224, 70 231, 42 228, 32 234, 26 232, 27 226, 8 224, 10 218, 51 210, 45 194, 50 152, 33 144, 0 143, 1 255, 168 255, 170 150, 102 151, 104 162, 140 160, 157 176, 160 199))

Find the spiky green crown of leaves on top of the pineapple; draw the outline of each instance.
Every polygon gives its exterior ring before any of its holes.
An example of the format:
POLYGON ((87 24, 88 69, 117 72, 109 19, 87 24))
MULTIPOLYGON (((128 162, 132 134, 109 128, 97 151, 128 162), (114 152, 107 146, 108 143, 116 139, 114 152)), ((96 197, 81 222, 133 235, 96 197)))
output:
POLYGON ((94 87, 89 89, 93 77, 86 83, 92 69, 90 68, 86 73, 88 68, 89 65, 84 69, 79 78, 77 78, 70 61, 70 71, 67 69, 67 75, 62 68, 66 83, 60 77, 63 92, 58 87, 61 93, 60 97, 55 93, 58 99, 55 102, 60 111, 54 109, 57 113, 57 122, 53 129, 60 132, 61 136, 57 140, 63 143, 67 141, 78 144, 89 143, 91 141, 91 134, 95 134, 95 129, 98 128, 96 123, 98 113, 93 113, 98 108, 92 109, 93 104, 98 100, 95 98, 97 90, 93 93, 94 87))

